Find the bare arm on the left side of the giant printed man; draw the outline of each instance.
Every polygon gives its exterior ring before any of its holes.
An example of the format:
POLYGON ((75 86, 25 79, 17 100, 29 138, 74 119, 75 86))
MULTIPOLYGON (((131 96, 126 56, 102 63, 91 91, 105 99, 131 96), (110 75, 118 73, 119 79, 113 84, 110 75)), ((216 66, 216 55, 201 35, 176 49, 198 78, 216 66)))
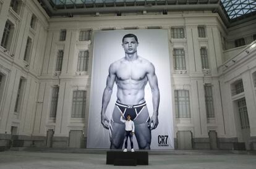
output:
POLYGON ((111 98, 112 89, 113 89, 115 80, 116 80, 116 74, 114 71, 114 65, 111 64, 109 66, 109 73, 108 73, 108 78, 106 80, 106 88, 104 89, 104 92, 103 92, 102 106, 101 106, 101 124, 106 129, 108 129, 109 127, 109 120, 108 120, 108 117, 106 117, 105 113, 111 98))

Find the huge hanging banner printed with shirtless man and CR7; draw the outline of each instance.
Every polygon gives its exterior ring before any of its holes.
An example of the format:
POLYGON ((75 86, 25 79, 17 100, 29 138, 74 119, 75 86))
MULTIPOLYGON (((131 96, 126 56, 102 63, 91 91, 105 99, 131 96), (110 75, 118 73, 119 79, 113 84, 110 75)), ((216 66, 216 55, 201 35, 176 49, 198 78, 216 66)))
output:
POLYGON ((174 149, 170 74, 167 30, 96 31, 87 148, 124 148, 129 114, 135 149, 174 149))

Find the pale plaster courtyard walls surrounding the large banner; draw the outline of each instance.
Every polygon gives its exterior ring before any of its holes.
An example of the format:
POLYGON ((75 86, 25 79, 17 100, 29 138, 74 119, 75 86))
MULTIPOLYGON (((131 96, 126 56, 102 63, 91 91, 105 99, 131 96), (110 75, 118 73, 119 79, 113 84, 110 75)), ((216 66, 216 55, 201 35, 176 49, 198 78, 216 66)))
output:
MULTIPOLYGON (((114 15, 101 15, 95 17, 74 16, 73 18, 56 17, 49 19, 48 15, 40 7, 37 1, 23 1, 19 15, 9 9, 11 0, 0 0, 0 25, 5 25, 9 19, 15 23, 15 34, 10 52, 4 52, 0 47, 0 71, 6 75, 4 93, 0 100, 0 133, 11 133, 11 126, 18 126, 19 134, 33 134, 34 136, 46 136, 48 129, 54 129, 54 136, 69 136, 70 130, 83 130, 87 136, 88 105, 90 98, 90 79, 92 70, 93 32, 90 41, 78 41, 81 29, 101 30, 102 28, 114 28, 121 30, 126 27, 138 27, 140 29, 159 26, 168 30, 169 54, 171 65, 172 93, 174 89, 189 89, 190 112, 189 119, 176 119, 173 108, 174 136, 177 131, 192 131, 194 138, 208 138, 208 131, 216 130, 218 137, 236 138, 237 125, 233 110, 230 84, 237 78, 245 81, 244 96, 247 101, 247 109, 250 118, 251 136, 256 136, 255 117, 255 88, 252 86, 251 74, 255 71, 255 57, 244 58, 242 62, 230 70, 223 70, 224 60, 233 58, 236 52, 225 52, 221 46, 221 36, 228 41, 228 48, 233 47, 233 40, 242 36, 255 33, 255 21, 242 25, 226 28, 218 14, 210 12, 176 12, 168 15, 146 14, 126 15, 117 17, 114 15), (36 15, 35 31, 29 28, 30 17, 36 15), (206 38, 198 38, 197 26, 205 25, 206 38), (183 27, 184 39, 171 39, 171 27, 183 27), (59 41, 61 29, 67 30, 66 41, 59 41), (245 33, 245 34, 244 34, 245 33), (27 36, 33 41, 29 66, 23 62, 25 42, 27 36), (230 43, 229 43, 230 42, 230 43), (232 42, 232 43, 231 43, 232 42), (186 53, 186 71, 174 71, 173 48, 183 47, 186 53), (210 63, 210 73, 202 71, 200 60, 200 47, 207 47, 210 63), (58 49, 64 49, 61 75, 55 76, 56 56, 58 49), (78 51, 85 49, 90 52, 89 69, 85 75, 75 75, 78 51), (11 57, 14 54, 14 58, 11 57), (181 74, 182 73, 182 74, 181 74), (19 115, 14 115, 14 103, 17 96, 19 78, 27 79, 25 94, 23 95, 22 109, 19 115), (205 101, 203 85, 213 85, 213 103, 215 118, 207 119, 205 114, 205 101), (59 85, 59 99, 56 119, 49 118, 51 89, 59 85), (87 90, 87 110, 84 119, 70 118, 72 104, 72 91, 74 89, 87 90), (254 91, 254 92, 252 92, 254 91)), ((3 27, 0 27, 0 39, 3 27)), ((245 57, 246 56, 246 57, 245 57)), ((241 59, 242 60, 242 59, 241 59)), ((225 62, 226 63, 226 62, 225 62)), ((224 63, 224 64, 225 64, 224 63)), ((228 62, 227 62, 228 63, 228 62)), ((173 107, 174 107, 174 96, 173 107)))

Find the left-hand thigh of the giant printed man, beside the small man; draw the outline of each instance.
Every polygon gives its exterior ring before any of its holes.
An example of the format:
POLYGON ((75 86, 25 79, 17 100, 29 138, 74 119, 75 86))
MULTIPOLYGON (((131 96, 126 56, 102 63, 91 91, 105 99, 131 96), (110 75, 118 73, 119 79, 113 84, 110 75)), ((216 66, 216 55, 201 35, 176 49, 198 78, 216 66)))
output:
POLYGON ((124 144, 124 123, 111 122, 111 138, 110 138, 110 149, 122 149, 122 144, 124 144))

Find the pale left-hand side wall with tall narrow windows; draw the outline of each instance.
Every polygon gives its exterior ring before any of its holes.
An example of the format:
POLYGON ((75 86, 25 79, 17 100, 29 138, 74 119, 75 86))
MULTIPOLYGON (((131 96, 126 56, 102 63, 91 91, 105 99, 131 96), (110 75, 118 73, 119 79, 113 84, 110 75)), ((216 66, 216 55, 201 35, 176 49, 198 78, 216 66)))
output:
MULTIPOLYGON (((0 71, 5 75, 4 93, 1 96, 0 133, 11 133, 11 126, 18 127, 18 133, 30 136, 33 132, 36 100, 38 96, 38 76, 45 53, 48 16, 37 1, 22 1, 16 14, 10 6, 11 0, 0 1, 0 25, 6 20, 14 24, 14 35, 9 51, 0 47, 0 71), (32 14, 36 15, 36 27, 30 28, 32 14), (23 60, 27 37, 32 38, 30 59, 23 60), (27 65, 27 66, 26 66, 27 65), (14 112, 20 77, 25 78, 22 103, 18 113, 14 112)), ((2 39, 4 27, 0 27, 2 39)))

